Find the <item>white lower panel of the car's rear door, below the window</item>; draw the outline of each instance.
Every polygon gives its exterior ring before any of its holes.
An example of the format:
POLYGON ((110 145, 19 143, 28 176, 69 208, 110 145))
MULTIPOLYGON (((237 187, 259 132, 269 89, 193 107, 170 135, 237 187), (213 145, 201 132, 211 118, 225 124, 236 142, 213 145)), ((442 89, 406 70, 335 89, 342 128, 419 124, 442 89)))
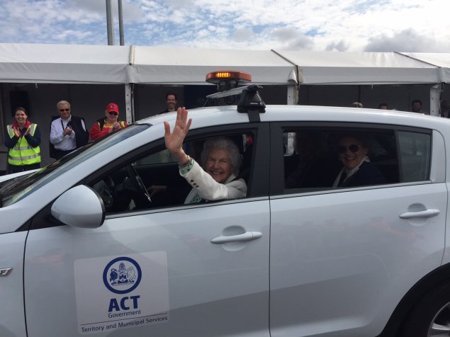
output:
POLYGON ((441 264, 446 204, 444 183, 271 200, 271 336, 381 333, 441 264), (415 203, 441 213, 398 217, 415 203))

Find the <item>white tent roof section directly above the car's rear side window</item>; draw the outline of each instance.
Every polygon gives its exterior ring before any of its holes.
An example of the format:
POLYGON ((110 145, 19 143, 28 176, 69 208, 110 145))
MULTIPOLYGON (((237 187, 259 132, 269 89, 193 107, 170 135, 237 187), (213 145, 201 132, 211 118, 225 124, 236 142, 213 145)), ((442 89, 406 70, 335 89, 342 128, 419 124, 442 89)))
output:
POLYGON ((303 84, 437 83, 437 67, 395 52, 277 52, 299 69, 303 84))

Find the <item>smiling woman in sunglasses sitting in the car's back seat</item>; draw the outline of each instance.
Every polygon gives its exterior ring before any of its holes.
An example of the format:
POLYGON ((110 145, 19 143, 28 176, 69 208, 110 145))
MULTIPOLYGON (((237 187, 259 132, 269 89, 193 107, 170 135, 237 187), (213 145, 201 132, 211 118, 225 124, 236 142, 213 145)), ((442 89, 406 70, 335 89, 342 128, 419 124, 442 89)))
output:
POLYGON ((352 187, 386 183, 383 173, 371 164, 366 139, 360 135, 344 135, 337 142, 337 153, 343 167, 333 187, 352 187))

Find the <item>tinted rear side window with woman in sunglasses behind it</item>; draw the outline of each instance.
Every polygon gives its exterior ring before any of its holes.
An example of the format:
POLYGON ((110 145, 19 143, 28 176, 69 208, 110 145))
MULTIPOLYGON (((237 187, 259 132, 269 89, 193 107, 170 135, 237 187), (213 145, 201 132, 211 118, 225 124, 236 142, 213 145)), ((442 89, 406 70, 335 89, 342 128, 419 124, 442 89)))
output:
POLYGON ((284 194, 427 181, 430 154, 431 132, 286 128, 284 194))

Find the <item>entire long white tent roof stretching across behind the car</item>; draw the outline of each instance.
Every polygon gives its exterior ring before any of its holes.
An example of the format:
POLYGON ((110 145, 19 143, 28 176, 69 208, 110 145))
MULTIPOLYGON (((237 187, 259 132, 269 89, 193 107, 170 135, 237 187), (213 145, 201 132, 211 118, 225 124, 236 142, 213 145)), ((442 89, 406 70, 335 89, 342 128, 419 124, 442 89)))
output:
POLYGON ((450 83, 450 53, 0 43, 0 82, 205 84, 215 70, 248 72, 256 84, 437 84, 450 83))

